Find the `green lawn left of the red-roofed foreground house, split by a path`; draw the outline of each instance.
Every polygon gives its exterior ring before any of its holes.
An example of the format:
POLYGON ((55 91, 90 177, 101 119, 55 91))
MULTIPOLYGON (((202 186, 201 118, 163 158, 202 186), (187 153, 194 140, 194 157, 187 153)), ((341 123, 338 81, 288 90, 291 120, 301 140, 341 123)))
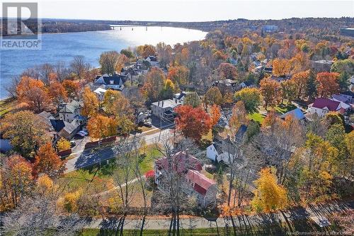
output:
MULTIPOLYGON (((141 172, 144 174, 153 169, 154 159, 161 157, 161 153, 156 150, 154 146, 147 146, 141 149, 142 153, 146 153, 146 156, 139 163, 141 172)), ((76 189, 85 189, 89 184, 94 184, 98 189, 104 191, 105 183, 107 183, 115 173, 119 173, 120 169, 115 164, 115 159, 108 160, 108 163, 94 164, 91 167, 78 169, 74 172, 64 174, 62 181, 67 181, 69 191, 76 189)), ((132 179, 134 179, 132 177, 132 179)))

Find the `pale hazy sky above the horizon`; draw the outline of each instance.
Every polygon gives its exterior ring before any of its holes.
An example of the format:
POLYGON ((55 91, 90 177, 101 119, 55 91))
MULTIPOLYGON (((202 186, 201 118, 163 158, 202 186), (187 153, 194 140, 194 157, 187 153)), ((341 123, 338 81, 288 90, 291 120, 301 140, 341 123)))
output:
POLYGON ((118 21, 218 21, 236 18, 278 20, 292 17, 354 17, 353 0, 40 0, 37 2, 41 18, 118 21))

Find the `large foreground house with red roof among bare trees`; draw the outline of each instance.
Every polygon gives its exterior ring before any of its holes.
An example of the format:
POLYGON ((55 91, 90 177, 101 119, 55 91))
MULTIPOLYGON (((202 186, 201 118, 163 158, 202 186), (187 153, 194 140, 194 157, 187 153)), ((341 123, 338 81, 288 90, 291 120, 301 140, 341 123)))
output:
POLYGON ((185 189, 186 194, 195 196, 201 206, 214 205, 217 185, 214 180, 200 173, 201 170, 202 163, 197 158, 186 151, 176 152, 169 158, 164 157, 154 162, 154 182, 157 188, 164 189, 166 187, 164 176, 169 172, 176 172, 185 177, 185 182, 189 186, 185 189))

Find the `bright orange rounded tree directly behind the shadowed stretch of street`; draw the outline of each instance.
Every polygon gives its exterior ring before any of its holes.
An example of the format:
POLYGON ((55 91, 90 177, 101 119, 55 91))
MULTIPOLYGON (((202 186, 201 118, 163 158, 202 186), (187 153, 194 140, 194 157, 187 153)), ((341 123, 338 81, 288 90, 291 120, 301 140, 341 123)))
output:
POLYGON ((89 135, 92 138, 103 138, 117 135, 118 133, 118 123, 115 118, 110 118, 107 116, 96 115, 89 119, 87 123, 87 129, 89 130, 89 135))

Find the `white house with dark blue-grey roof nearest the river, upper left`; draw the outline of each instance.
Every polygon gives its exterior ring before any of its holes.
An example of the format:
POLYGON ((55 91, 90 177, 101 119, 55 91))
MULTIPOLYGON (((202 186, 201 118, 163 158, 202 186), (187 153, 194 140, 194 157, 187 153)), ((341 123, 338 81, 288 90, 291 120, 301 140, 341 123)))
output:
POLYGON ((112 74, 98 75, 93 82, 96 87, 103 87, 104 89, 120 90, 124 89, 124 83, 127 80, 126 75, 121 75, 115 72, 112 74))

